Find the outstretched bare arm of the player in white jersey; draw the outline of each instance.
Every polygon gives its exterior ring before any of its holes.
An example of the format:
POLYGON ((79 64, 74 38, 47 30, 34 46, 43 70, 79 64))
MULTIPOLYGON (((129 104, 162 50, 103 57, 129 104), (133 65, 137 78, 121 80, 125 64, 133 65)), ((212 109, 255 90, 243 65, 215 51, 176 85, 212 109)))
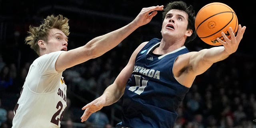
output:
POLYGON ((108 52, 117 46, 120 42, 122 42, 122 40, 124 40, 138 27, 148 24, 151 19, 156 16, 158 10, 163 10, 163 6, 142 8, 138 16, 128 25, 108 34, 98 36, 90 40, 84 46, 63 52, 56 61, 56 70, 64 70, 66 68, 70 68, 108 52))

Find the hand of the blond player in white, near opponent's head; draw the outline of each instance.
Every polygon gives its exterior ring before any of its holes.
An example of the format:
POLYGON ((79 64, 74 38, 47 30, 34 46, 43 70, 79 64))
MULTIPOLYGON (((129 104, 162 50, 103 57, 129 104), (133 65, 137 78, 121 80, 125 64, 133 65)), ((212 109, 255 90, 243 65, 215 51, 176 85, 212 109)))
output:
POLYGON ((164 6, 152 6, 148 8, 142 8, 138 16, 133 20, 136 26, 142 26, 148 24, 151 19, 156 16, 157 11, 163 10, 164 6))

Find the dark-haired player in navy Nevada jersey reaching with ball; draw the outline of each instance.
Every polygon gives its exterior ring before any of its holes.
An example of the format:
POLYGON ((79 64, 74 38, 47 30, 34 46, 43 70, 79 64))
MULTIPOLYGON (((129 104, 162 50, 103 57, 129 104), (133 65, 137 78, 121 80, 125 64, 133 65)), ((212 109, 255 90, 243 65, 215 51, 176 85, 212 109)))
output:
POLYGON ((163 11, 162 39, 153 38, 136 48, 128 64, 104 93, 84 106, 81 121, 122 97, 122 128, 173 128, 176 110, 197 75, 236 52, 245 26, 231 39, 222 32, 222 46, 189 52, 184 44, 196 37, 195 12, 182 1, 163 11))

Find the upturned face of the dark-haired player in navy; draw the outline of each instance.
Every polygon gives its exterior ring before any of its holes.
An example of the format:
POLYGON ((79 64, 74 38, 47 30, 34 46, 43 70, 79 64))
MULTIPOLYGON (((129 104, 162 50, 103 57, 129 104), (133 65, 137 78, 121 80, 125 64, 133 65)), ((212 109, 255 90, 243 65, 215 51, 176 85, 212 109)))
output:
POLYGON ((172 39, 185 38, 186 40, 186 36, 188 36, 186 35, 187 26, 188 14, 186 12, 177 9, 170 10, 166 14, 162 24, 162 36, 171 36, 172 39))

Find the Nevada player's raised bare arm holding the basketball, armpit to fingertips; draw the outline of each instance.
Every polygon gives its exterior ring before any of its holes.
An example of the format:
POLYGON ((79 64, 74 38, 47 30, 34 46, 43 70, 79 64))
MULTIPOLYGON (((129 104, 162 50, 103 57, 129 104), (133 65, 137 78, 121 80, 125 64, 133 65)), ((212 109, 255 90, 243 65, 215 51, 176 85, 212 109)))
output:
POLYGON ((238 33, 235 36, 232 28, 229 28, 231 39, 222 32, 226 42, 217 39, 223 46, 203 49, 199 52, 189 52, 180 55, 174 63, 174 76, 186 87, 190 87, 194 78, 204 73, 213 63, 226 59, 230 54, 236 52, 240 41, 242 40, 246 27, 238 26, 238 33))

